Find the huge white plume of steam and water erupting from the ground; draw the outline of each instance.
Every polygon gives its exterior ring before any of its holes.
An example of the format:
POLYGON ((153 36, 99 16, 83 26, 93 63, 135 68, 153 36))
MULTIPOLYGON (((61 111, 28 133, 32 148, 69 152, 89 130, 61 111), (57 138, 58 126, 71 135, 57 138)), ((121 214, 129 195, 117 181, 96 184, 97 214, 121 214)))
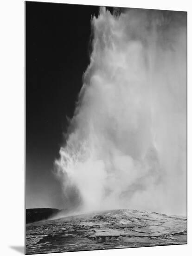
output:
POLYGON ((186 214, 186 13, 100 8, 67 140, 66 205, 186 214))

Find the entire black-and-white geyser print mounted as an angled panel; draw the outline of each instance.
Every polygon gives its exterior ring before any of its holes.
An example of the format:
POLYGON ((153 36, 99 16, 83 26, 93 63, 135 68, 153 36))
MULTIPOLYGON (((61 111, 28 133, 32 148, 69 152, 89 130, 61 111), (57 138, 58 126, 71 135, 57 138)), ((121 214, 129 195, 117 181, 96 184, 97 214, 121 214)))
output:
POLYGON ((25 121, 27 255, 187 244, 187 12, 26 1, 25 121))

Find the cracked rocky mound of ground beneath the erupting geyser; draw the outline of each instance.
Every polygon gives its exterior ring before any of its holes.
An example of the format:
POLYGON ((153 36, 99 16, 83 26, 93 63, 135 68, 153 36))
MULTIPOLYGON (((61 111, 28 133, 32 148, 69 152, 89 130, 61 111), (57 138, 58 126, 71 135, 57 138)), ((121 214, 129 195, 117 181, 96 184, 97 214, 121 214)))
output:
POLYGON ((186 244, 186 218, 110 210, 26 224, 26 254, 186 244))

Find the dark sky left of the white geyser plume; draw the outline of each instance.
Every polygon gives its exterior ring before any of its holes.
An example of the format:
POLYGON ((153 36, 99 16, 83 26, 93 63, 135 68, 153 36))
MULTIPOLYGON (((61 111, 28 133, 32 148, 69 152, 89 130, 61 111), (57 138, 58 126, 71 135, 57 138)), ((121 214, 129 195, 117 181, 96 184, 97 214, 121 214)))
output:
POLYGON ((89 65, 98 10, 26 2, 26 208, 64 208, 53 162, 89 65))

